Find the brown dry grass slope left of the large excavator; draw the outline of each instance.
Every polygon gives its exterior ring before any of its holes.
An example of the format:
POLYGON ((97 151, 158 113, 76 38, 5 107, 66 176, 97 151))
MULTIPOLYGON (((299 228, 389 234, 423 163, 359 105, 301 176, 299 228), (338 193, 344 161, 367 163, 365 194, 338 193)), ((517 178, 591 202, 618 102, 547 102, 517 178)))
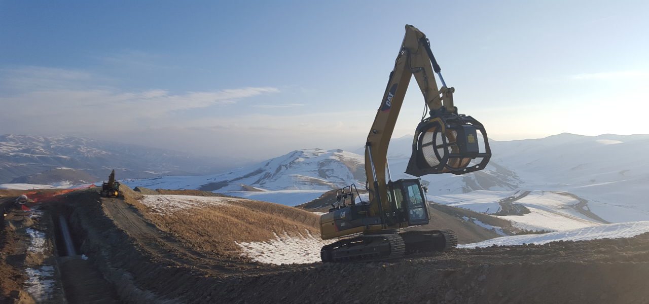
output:
MULTIPOLYGON (((156 191, 211 196, 205 191, 156 191)), ((319 216, 295 207, 214 195, 224 197, 227 204, 206 204, 160 214, 140 202, 142 194, 127 187, 123 193, 125 201, 134 205, 149 222, 206 255, 239 259, 241 249, 236 242, 263 242, 284 233, 291 237, 308 237, 308 233, 319 235, 319 216)))

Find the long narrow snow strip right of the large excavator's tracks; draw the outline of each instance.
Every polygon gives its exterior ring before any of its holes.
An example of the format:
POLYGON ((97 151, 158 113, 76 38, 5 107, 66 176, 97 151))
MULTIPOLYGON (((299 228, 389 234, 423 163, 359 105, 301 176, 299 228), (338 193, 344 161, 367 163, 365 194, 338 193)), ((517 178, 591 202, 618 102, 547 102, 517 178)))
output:
POLYGON ((498 237, 496 239, 484 240, 482 242, 458 245, 458 248, 489 247, 492 245, 513 246, 532 243, 546 244, 557 240, 620 239, 623 237, 635 237, 636 235, 646 232, 649 232, 649 221, 602 224, 587 228, 544 233, 541 235, 513 235, 511 237, 498 237))

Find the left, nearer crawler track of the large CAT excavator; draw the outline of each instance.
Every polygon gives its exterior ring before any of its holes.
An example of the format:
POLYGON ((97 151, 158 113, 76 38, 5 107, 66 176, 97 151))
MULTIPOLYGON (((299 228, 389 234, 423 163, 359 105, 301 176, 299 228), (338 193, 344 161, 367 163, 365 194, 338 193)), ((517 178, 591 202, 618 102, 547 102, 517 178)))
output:
POLYGON ((406 243, 397 233, 363 235, 338 240, 323 246, 323 263, 370 262, 399 259, 406 252, 406 243))

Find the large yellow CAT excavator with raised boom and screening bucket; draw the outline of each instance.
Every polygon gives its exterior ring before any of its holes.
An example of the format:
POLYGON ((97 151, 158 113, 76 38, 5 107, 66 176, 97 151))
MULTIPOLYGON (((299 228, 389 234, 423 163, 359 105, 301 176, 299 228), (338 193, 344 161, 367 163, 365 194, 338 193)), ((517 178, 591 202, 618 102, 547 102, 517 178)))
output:
POLYGON ((415 130, 406 173, 465 174, 484 169, 491 158, 484 126, 471 116, 458 114, 453 104, 455 89, 447 88, 430 41, 417 28, 406 25, 365 144, 369 200, 363 201, 353 184, 337 191, 337 202, 320 218, 322 239, 339 238, 323 246, 323 263, 395 259, 417 251, 448 251, 458 244, 450 229, 402 231, 430 222, 426 189, 420 179, 393 181, 387 163, 387 147, 413 75, 424 95, 424 114, 430 115, 415 130), (434 73, 443 85, 440 89, 434 73))

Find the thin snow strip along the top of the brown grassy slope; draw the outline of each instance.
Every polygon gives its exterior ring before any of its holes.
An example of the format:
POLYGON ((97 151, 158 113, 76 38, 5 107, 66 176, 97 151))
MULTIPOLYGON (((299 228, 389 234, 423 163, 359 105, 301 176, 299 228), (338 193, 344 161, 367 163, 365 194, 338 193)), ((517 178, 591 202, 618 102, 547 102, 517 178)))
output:
POLYGON ((151 207, 160 214, 169 214, 182 209, 230 205, 229 202, 236 202, 241 198, 223 198, 219 196, 193 196, 193 195, 145 195, 140 201, 147 207, 151 207))

